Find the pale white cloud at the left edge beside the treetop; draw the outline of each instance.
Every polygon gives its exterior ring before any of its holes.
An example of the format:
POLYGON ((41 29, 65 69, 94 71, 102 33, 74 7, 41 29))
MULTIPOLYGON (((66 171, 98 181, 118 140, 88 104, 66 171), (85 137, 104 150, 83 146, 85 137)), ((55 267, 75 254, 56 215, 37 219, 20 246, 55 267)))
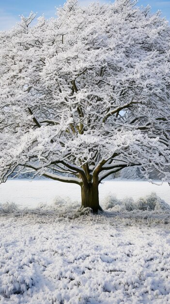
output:
POLYGON ((10 30, 19 20, 19 16, 15 17, 0 10, 0 31, 10 30))

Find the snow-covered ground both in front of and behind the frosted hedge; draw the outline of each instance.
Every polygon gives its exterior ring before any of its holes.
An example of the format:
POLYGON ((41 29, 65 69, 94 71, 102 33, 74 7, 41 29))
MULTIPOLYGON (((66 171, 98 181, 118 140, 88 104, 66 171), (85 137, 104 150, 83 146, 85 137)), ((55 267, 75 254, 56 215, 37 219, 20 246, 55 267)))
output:
POLYGON ((170 207, 153 191, 170 204, 167 184, 107 181, 106 212, 80 215, 76 186, 1 185, 0 304, 169 304, 170 207))

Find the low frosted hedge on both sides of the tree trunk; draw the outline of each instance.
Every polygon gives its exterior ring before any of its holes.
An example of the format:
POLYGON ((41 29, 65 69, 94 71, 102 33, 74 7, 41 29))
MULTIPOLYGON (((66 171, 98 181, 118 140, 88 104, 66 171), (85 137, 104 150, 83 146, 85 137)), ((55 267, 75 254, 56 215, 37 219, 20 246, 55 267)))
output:
MULTIPOLYGON (((170 211, 170 205, 158 197, 154 192, 146 197, 139 198, 136 202, 131 197, 124 199, 118 199, 115 195, 109 195, 101 202, 101 206, 104 210, 108 211, 170 211)), ((88 216, 91 213, 91 208, 79 208, 79 203, 72 203, 69 198, 64 200, 60 197, 56 198, 52 205, 40 204, 37 208, 25 208, 19 209, 15 203, 0 204, 0 215, 36 215, 41 218, 68 218, 76 219, 80 216, 88 216)))

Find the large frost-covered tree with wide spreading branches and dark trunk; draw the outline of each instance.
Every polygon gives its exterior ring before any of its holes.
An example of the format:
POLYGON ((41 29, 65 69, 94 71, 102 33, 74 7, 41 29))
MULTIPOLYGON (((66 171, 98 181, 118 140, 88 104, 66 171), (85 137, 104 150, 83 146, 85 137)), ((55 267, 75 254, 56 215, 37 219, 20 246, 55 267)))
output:
POLYGON ((170 182, 170 27, 136 0, 21 17, 0 33, 0 176, 19 168, 81 186, 140 166, 170 182))

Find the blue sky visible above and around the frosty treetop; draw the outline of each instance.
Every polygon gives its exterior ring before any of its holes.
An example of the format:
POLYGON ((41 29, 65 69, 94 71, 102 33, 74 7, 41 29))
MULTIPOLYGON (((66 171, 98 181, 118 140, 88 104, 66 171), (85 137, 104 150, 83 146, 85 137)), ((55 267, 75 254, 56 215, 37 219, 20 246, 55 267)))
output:
MULTIPOLYGON (((95 0, 79 0, 83 5, 95 0)), ((108 2, 109 0, 100 0, 100 2, 108 2)), ((0 31, 8 30, 20 20, 19 15, 28 16, 31 11, 41 16, 43 13, 46 18, 55 16, 55 6, 63 5, 64 0, 0 0, 0 31)), ((166 17, 170 21, 170 0, 139 0, 138 6, 152 7, 152 12, 160 9, 162 17, 166 17)))

